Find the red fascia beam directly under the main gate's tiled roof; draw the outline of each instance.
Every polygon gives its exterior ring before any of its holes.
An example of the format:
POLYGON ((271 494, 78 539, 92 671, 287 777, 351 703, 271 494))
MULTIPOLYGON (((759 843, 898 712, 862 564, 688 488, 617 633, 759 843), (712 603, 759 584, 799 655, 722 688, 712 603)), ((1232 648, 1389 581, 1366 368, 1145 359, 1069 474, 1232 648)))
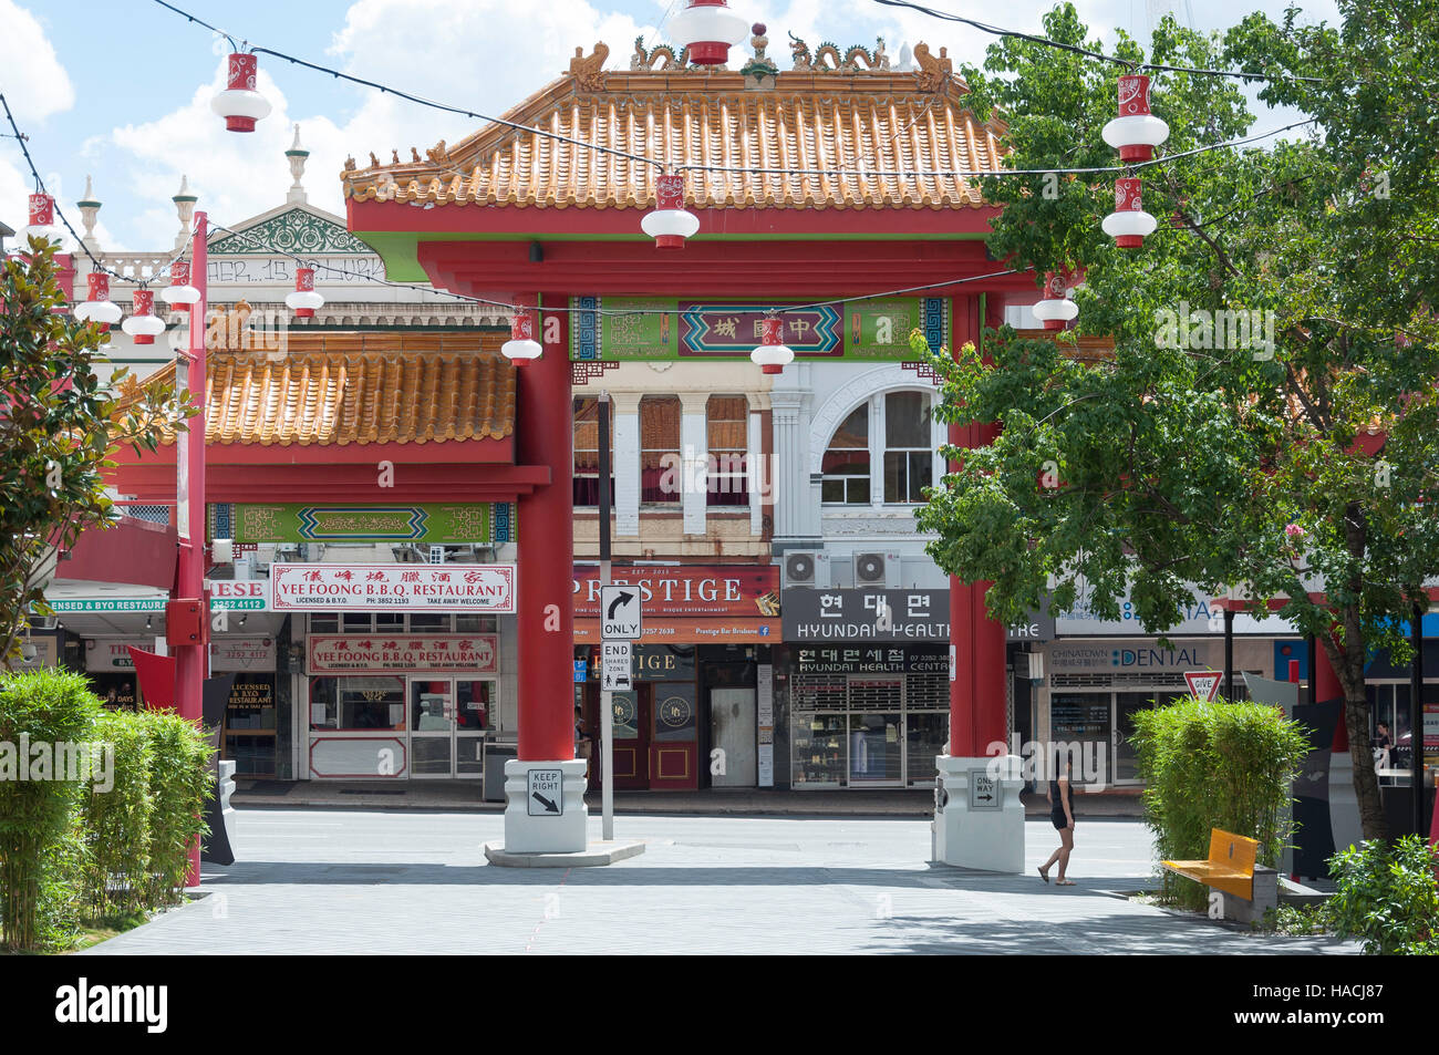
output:
MULTIPOLYGON (((989 235, 999 209, 695 209, 696 240, 707 235, 768 236, 833 235, 989 235)), ((650 245, 640 232, 643 209, 524 209, 515 206, 437 206, 420 209, 397 202, 347 203, 345 226, 367 232, 420 232, 436 235, 509 235, 521 240, 547 236, 633 237, 650 245)), ((653 246, 652 246, 653 248, 653 246)))

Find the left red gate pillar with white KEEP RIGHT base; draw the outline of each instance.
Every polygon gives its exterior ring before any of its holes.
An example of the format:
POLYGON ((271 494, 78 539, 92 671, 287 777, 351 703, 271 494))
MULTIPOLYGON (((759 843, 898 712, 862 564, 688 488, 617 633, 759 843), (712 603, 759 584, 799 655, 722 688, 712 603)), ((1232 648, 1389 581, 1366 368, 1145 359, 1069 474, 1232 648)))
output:
MULTIPOLYGON (((537 299, 521 301, 535 304, 537 299)), ((564 304, 564 298, 558 298, 564 304)), ((515 450, 550 469, 519 498, 518 759, 505 763, 507 853, 586 846, 583 759, 574 757, 574 455, 568 317, 535 312, 544 354, 517 367, 515 450)))

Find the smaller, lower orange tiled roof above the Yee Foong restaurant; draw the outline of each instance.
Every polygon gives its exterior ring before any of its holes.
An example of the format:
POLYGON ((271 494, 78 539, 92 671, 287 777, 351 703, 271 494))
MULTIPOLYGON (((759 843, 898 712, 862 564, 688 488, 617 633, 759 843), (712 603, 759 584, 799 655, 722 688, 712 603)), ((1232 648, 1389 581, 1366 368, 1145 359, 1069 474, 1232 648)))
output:
MULTIPOLYGON (((468 348, 413 347, 426 344, 458 345, 460 340, 455 334, 291 334, 285 353, 212 350, 206 442, 342 446, 509 436, 514 366, 498 351, 478 347, 473 334, 468 348)), ((174 366, 165 367, 153 380, 173 380, 173 373, 174 366)), ((164 442, 174 442, 174 435, 164 442)))

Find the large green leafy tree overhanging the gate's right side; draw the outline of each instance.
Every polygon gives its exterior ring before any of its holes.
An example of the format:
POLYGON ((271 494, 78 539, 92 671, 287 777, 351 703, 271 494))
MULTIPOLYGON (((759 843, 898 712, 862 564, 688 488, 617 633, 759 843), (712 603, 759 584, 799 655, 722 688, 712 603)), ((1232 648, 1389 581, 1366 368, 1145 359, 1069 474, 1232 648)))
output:
MULTIPOLYGON (((1148 62, 1274 75, 1261 98, 1312 122, 1184 157, 1279 121, 1256 127, 1232 78, 1154 72, 1170 138, 1135 173, 1160 222, 1141 249, 1101 230, 1112 174, 984 180, 1003 206, 994 253, 1082 268, 1079 331, 1114 351, 1002 330, 937 357, 941 415, 1002 427, 947 449, 960 468, 920 525, 945 571, 993 583, 990 610, 1010 622, 1052 584, 1053 610, 1082 596, 1111 619, 1128 593, 1150 632, 1177 625, 1191 584, 1275 600, 1334 665, 1363 830, 1383 838, 1364 662, 1407 658, 1397 620, 1439 574, 1439 7, 1338 7, 1337 29, 1294 10, 1222 39, 1160 24, 1148 62)), ((1101 50, 1069 4, 1045 35, 1101 50)), ((1145 60, 1122 32, 1112 53, 1145 60)), ((1006 122, 1009 164, 1056 170, 1118 163, 1101 130, 1120 72, 1006 39, 966 78, 976 112, 1006 122)))

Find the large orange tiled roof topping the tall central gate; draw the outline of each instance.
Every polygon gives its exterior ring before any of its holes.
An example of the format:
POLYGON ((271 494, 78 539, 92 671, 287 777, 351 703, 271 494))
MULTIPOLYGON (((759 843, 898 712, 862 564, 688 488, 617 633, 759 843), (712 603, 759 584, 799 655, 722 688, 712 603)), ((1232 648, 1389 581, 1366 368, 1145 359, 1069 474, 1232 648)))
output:
MULTIPOLYGON (((603 47, 603 45, 602 45, 603 47)), ((604 49, 607 53, 607 49, 604 49)), ((590 63, 576 59, 571 66, 590 63)), ((767 89, 740 72, 571 69, 504 115, 584 142, 671 166, 846 168, 837 176, 686 170, 692 207, 953 209, 983 204, 960 176, 873 176, 868 170, 1000 167, 1002 128, 964 107, 968 88, 948 71, 787 71, 767 89)), ((931 62, 931 65, 934 65, 931 62)), ((420 160, 368 168, 347 161, 347 197, 400 203, 650 209, 659 168, 491 124, 420 160)))

